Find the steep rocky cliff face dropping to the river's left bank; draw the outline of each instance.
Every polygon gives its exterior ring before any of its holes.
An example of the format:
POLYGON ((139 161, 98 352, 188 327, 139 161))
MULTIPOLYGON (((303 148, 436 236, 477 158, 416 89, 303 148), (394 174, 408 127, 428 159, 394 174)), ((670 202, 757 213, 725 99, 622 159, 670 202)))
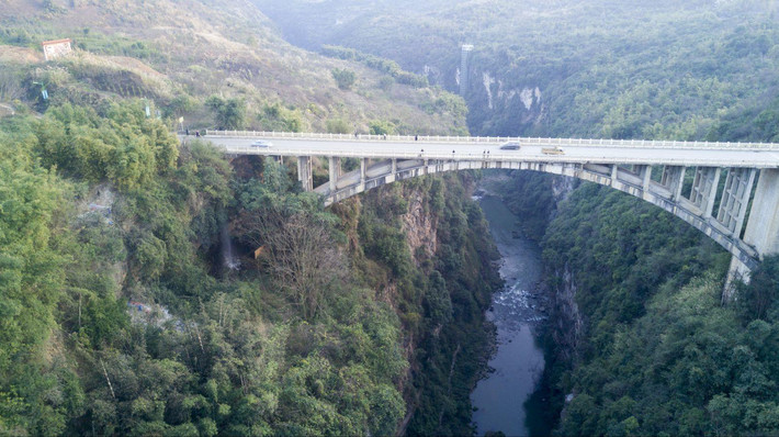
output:
POLYGON ((342 202, 355 269, 403 321, 409 368, 398 386, 400 434, 470 434, 470 392, 488 336, 484 311, 499 277, 467 175, 426 177, 342 202))

